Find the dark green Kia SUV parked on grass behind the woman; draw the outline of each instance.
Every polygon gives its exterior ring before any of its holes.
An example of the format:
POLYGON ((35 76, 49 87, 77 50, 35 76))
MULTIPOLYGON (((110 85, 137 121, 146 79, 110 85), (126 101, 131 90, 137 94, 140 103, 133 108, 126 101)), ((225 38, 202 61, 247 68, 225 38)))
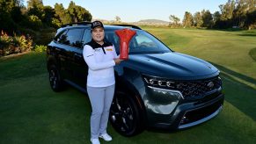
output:
MULTIPOLYGON (((48 44, 49 82, 55 91, 69 83, 86 93, 84 44, 91 23, 62 25, 48 44)), ((130 28, 129 59, 115 66, 116 90, 110 111, 114 129, 125 136, 146 127, 184 129, 215 117, 223 107, 220 71, 207 61, 172 51, 135 25, 105 25, 106 40, 119 54, 115 30, 130 28)))

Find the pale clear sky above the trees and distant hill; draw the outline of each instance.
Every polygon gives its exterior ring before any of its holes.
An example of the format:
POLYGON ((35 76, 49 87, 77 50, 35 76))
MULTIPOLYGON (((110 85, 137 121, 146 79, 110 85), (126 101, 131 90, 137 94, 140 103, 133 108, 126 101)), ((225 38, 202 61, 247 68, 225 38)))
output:
MULTIPOLYGON (((196 11, 220 11, 219 5, 228 0, 73 0, 77 5, 91 12, 92 19, 115 20, 118 16, 123 22, 137 22, 142 19, 170 21, 175 15, 181 21, 185 11, 194 15, 196 11)), ((27 0, 24 0, 25 5, 27 0)), ((43 0, 44 5, 63 4, 68 8, 69 0, 43 0)))

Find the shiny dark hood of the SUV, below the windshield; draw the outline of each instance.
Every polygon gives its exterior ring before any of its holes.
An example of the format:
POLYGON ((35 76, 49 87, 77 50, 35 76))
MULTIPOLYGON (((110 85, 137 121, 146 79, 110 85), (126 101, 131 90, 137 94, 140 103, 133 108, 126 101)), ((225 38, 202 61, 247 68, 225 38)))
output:
POLYGON ((204 76, 218 75, 219 70, 207 61, 187 54, 176 52, 164 54, 130 54, 125 65, 135 68, 144 74, 173 79, 205 78, 204 76), (216 74, 217 73, 217 74, 216 74))

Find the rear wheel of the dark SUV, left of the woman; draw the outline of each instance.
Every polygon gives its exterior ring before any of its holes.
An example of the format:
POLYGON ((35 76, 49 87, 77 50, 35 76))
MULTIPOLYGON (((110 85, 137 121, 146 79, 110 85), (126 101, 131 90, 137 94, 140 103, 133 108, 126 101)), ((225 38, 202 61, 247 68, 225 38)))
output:
POLYGON ((62 81, 58 68, 56 68, 55 65, 51 65, 48 68, 48 73, 49 73, 49 83, 52 90, 56 92, 62 91, 64 83, 62 81))

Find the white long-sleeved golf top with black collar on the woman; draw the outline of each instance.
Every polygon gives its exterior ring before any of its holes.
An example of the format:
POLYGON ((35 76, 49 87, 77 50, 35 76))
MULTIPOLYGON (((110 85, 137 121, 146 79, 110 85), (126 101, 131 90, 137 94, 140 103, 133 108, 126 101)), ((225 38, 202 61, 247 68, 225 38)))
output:
POLYGON ((104 41, 101 46, 91 40, 85 44, 83 56, 88 65, 87 86, 106 87, 115 83, 113 59, 117 58, 117 54, 112 43, 104 41))

